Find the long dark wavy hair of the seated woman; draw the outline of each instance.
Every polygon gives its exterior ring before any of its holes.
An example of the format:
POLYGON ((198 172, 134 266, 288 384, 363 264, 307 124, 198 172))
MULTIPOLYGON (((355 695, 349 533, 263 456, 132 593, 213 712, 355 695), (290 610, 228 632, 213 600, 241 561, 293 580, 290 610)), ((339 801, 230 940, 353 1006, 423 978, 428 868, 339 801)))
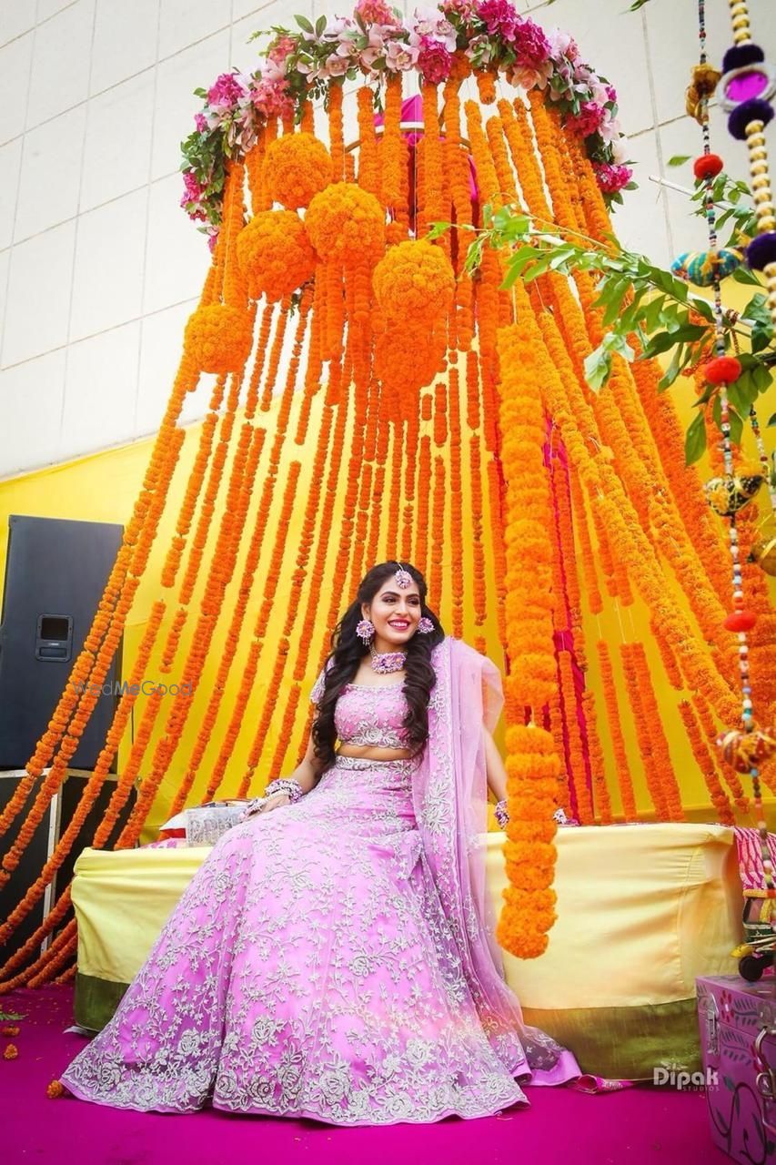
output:
MULTIPOLYGON (((403 726, 407 729, 407 747, 412 750, 412 756, 415 756, 425 748, 429 739, 429 696, 437 682, 431 664, 431 650, 437 643, 442 643, 445 631, 436 613, 426 606, 425 579, 411 564, 402 563, 402 566, 417 582, 421 595, 421 615, 425 615, 433 623, 432 631, 426 635, 416 631, 403 649, 407 651, 407 662, 402 691, 408 704, 403 726)), ((373 566, 364 576, 355 599, 331 634, 332 650, 326 657, 329 670, 324 693, 318 702, 318 715, 312 725, 315 754, 319 761, 323 761, 322 772, 325 772, 334 763, 334 741, 337 740, 334 707, 337 699, 345 685, 355 676, 365 654, 364 643, 355 634, 357 624, 364 617, 361 603, 371 605, 386 579, 394 576, 397 569, 398 563, 396 562, 379 563, 373 566), (332 661, 331 665, 329 665, 329 661, 332 661)))

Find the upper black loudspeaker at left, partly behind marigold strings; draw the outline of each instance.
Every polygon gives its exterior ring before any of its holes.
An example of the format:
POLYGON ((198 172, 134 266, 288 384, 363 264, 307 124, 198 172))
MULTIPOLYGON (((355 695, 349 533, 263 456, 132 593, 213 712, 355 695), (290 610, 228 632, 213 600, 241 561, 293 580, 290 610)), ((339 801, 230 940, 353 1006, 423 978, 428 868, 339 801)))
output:
MULTIPOLYGON (((23 768, 45 732, 103 596, 122 527, 8 518, 0 615, 0 770, 23 768)), ((121 649, 71 757, 93 769, 119 696, 121 649)))

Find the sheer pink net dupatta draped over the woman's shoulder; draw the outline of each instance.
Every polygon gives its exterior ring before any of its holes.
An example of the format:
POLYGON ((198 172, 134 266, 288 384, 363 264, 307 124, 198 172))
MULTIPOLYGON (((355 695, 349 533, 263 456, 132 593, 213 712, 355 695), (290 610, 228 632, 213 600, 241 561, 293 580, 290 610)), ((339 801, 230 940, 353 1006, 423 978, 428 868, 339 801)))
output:
POLYGON ((451 636, 437 644, 431 658, 437 683, 412 798, 424 860, 450 926, 450 970, 463 966, 482 1028, 513 1075, 530 1075, 530 1083, 564 1083, 580 1074, 579 1066, 571 1052, 523 1023, 517 997, 505 982, 486 888, 482 725, 492 732, 501 714, 501 675, 489 659, 451 636))

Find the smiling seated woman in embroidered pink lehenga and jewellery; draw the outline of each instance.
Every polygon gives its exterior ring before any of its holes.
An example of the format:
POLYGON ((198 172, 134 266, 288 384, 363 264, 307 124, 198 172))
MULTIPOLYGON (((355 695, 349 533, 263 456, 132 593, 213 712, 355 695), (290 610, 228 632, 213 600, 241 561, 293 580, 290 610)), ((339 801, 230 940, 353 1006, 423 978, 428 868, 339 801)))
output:
POLYGON ((579 1074, 523 1024, 487 906, 501 677, 425 599, 414 566, 366 574, 304 760, 213 847, 62 1076, 76 1096, 390 1124, 492 1115, 521 1082, 579 1074))

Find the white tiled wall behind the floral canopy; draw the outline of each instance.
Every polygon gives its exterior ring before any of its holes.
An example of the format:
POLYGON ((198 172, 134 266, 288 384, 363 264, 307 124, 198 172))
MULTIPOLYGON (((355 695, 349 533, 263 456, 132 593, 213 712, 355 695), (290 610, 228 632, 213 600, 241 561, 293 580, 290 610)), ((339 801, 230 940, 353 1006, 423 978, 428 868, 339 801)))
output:
MULTIPOLYGON (((673 154, 694 154, 684 116, 697 59, 696 0, 518 0, 572 33, 616 85, 640 189, 618 214, 627 246, 669 262, 703 246, 673 154)), ((415 7, 408 0, 405 7, 415 7)), ((766 6, 753 7, 776 57, 766 6)), ((251 69, 252 31, 351 0, 0 0, 0 478, 153 432, 209 254, 178 207, 178 144, 192 90, 251 69)), ((706 5, 708 47, 729 43, 725 0, 706 5)), ((743 150, 714 118, 728 169, 743 150)), ((209 386, 186 401, 206 408, 209 386)))

